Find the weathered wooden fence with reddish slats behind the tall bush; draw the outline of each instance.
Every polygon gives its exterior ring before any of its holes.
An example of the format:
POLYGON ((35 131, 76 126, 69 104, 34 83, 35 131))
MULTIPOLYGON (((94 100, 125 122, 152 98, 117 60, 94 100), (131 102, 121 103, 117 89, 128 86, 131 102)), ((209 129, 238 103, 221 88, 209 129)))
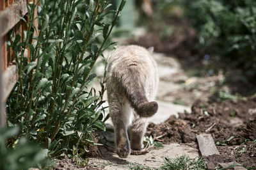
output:
MULTIPOLYGON (((24 37, 24 30, 26 30, 27 27, 20 17, 25 17, 26 19, 26 16, 29 15, 27 4, 30 1, 33 2, 34 0, 0 0, 0 73, 2 77, 0 77, 1 104, 6 100, 8 95, 10 95, 10 92, 18 79, 17 66, 15 65, 15 60, 13 58, 13 51, 9 49, 7 45, 7 42, 10 40, 10 31, 13 31, 13 35, 19 34, 22 38, 24 37)), ((33 24, 35 24, 36 27, 38 26, 36 20, 33 24)), ((28 52, 29 50, 25 55, 28 56, 28 52)))

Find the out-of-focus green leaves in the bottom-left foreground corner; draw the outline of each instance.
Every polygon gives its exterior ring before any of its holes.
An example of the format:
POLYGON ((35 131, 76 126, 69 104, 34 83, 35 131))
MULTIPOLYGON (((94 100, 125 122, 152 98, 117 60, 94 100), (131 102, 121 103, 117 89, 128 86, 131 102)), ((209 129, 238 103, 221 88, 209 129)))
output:
POLYGON ((47 149, 30 143, 26 138, 16 139, 12 147, 7 147, 7 141, 19 132, 18 127, 0 128, 0 169, 29 169, 29 167, 45 167, 47 164, 47 149))

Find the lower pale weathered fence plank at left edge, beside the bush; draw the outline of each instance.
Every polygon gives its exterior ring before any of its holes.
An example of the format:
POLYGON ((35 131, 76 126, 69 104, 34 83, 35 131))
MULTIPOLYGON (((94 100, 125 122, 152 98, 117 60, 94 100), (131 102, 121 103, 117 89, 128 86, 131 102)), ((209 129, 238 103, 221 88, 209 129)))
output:
POLYGON ((3 72, 3 100, 6 101, 18 80, 17 66, 11 65, 3 72))

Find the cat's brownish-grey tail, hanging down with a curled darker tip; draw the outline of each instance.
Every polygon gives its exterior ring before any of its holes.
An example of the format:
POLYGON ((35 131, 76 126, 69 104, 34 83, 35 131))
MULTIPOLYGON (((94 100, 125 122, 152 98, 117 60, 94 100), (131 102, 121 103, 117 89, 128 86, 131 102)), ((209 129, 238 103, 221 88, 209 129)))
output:
POLYGON ((121 80, 119 81, 124 88, 126 97, 140 117, 153 116, 157 112, 158 104, 157 102, 148 102, 140 71, 131 67, 127 69, 128 73, 123 72, 124 74, 120 76, 121 80))

